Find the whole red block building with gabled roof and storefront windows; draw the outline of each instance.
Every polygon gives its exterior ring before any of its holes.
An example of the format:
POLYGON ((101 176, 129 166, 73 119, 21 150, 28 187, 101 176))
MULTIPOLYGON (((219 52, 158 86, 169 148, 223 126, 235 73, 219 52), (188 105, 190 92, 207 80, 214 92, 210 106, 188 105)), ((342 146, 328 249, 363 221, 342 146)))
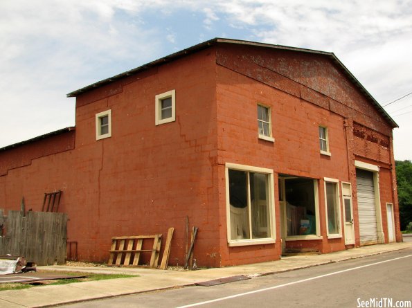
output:
POLYGON ((80 260, 174 227, 182 264, 186 217, 198 266, 402 241, 397 125, 333 53, 212 39, 68 96, 75 128, 0 150, 0 208, 62 190, 80 260))

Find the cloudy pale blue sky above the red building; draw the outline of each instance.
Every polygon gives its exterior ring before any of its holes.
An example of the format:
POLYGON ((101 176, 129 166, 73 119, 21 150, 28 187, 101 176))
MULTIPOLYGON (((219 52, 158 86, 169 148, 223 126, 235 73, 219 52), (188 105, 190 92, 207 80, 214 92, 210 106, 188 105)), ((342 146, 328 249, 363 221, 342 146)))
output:
POLYGON ((75 125, 66 93, 213 37, 333 52, 396 100, 412 159, 412 0, 0 0, 0 147, 75 125))

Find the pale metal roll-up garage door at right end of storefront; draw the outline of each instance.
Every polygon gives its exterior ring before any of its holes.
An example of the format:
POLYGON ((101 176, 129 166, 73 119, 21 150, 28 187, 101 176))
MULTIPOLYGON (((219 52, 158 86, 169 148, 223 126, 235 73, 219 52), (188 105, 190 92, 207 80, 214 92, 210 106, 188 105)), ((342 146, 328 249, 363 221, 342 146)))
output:
POLYGON ((361 245, 377 244, 373 172, 357 169, 356 184, 361 245))

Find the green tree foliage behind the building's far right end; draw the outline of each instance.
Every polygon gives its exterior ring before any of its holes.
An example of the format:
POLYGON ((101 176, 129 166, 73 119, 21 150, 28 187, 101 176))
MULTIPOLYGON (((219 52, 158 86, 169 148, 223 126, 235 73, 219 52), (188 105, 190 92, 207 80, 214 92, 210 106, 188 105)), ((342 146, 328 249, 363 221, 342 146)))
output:
POLYGON ((412 221, 412 163, 395 161, 401 230, 412 221))

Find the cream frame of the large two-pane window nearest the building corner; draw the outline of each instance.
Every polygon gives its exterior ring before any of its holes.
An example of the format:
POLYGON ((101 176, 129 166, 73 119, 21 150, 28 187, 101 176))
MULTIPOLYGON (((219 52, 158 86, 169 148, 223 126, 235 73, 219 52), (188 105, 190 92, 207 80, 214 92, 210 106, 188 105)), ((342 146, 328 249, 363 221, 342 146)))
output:
MULTIPOLYGON (((227 241, 229 246, 248 246, 248 245, 259 245, 259 244, 274 244, 276 242, 276 224, 275 224, 275 212, 274 212, 274 170, 262 168, 262 167, 253 167, 249 165, 239 165, 235 163, 226 163, 225 164, 225 176, 226 176, 226 230, 227 230, 227 241), (270 226, 270 237, 265 237, 262 239, 231 239, 231 204, 230 204, 230 192, 229 192, 229 170, 239 170, 244 172, 257 172, 262 174, 267 174, 268 176, 268 188, 269 188, 269 223, 270 226)), ((248 188, 249 189, 249 188, 248 188)), ((249 208, 249 217, 250 216, 250 204, 249 208)), ((251 228, 251 224, 249 224, 251 228)), ((250 233, 252 234, 252 233, 250 233)))

